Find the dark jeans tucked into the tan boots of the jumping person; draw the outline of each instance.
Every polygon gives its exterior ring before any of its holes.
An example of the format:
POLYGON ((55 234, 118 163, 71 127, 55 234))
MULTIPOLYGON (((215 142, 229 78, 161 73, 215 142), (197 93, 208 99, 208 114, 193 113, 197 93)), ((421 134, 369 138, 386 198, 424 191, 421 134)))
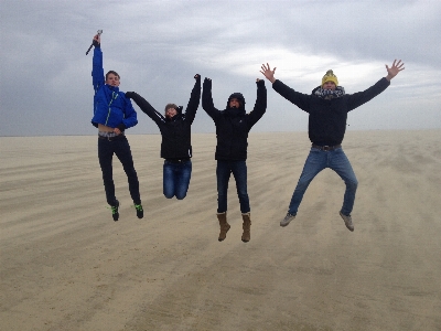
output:
POLYGON ((237 196, 239 197, 240 212, 248 213, 249 197, 247 192, 247 163, 245 161, 217 161, 217 212, 225 213, 227 211, 227 192, 229 175, 236 180, 237 196))

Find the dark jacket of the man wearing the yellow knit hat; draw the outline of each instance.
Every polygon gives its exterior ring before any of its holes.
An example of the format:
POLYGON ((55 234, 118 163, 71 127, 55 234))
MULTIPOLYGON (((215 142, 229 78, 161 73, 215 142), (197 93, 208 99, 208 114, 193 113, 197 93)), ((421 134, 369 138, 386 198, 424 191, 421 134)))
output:
POLYGON ((300 109, 309 113, 309 137, 312 143, 335 146, 343 141, 347 113, 369 102, 389 85, 389 81, 381 78, 366 90, 333 99, 323 99, 314 94, 301 94, 278 79, 272 84, 272 88, 300 109))

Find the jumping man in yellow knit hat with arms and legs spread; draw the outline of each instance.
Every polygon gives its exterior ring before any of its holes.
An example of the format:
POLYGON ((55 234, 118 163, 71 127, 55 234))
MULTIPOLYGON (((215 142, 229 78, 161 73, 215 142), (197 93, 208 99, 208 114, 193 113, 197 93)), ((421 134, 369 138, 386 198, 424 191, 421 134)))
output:
POLYGON ((347 113, 384 92, 390 85, 390 79, 405 67, 401 60, 398 62, 395 60, 390 68, 386 65, 386 77, 379 79, 364 92, 351 95, 345 94, 344 88, 338 86, 338 79, 333 71, 327 71, 322 78, 322 85, 314 88, 311 95, 306 95, 295 92, 279 79, 276 79, 276 67, 271 71, 269 64, 262 64, 261 73, 272 83, 272 88, 300 109, 309 113, 309 137, 312 142, 310 154, 292 194, 288 213, 280 222, 280 226, 287 226, 294 220, 310 182, 320 171, 330 168, 346 184, 340 215, 346 227, 349 231, 354 231, 351 212, 354 206, 358 181, 341 143, 346 130, 347 113))

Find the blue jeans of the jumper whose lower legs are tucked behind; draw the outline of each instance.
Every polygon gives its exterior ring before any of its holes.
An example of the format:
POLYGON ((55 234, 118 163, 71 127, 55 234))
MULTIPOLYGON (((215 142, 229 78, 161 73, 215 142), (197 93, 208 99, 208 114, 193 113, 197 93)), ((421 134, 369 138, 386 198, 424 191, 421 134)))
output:
POLYGON ((163 192, 166 199, 176 196, 182 200, 189 191, 192 177, 192 161, 164 161, 163 166, 163 192))

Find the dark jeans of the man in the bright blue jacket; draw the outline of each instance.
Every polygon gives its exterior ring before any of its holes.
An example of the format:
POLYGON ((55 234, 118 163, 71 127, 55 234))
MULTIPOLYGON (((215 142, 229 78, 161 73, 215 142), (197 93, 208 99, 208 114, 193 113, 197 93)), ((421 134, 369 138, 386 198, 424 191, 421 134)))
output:
POLYGON ((127 138, 120 137, 109 141, 108 139, 98 138, 98 160, 103 171, 104 189, 106 191, 106 199, 109 205, 115 205, 115 184, 111 160, 114 153, 117 156, 122 164, 129 182, 130 196, 135 204, 141 204, 139 194, 139 182, 137 171, 135 170, 133 159, 127 138))

